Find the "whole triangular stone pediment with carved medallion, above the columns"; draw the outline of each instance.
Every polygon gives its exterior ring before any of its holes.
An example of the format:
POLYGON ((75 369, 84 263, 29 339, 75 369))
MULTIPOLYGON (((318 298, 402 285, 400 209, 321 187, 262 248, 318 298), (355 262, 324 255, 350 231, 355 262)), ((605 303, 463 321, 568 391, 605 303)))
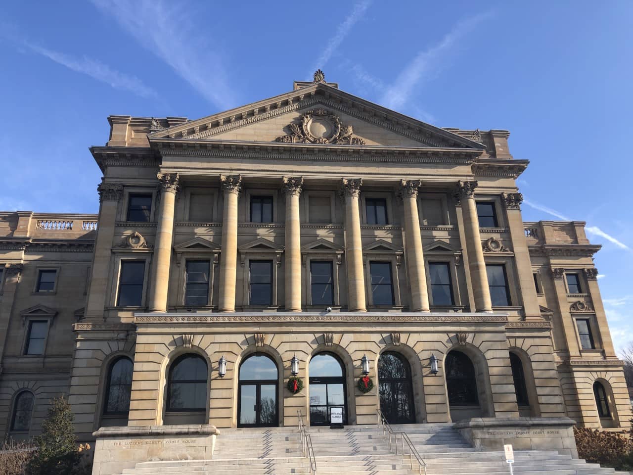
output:
POLYGON ((481 151, 482 144, 318 83, 149 134, 149 140, 248 141, 481 151))

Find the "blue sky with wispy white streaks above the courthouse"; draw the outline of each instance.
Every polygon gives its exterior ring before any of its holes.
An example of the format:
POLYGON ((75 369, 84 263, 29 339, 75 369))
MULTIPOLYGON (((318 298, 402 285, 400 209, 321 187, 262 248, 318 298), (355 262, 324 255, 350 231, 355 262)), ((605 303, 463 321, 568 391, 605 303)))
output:
POLYGON ((88 147, 106 143, 108 115, 195 119, 322 68, 439 127, 509 129, 511 153, 531 162, 523 219, 587 221, 613 339, 633 341, 632 2, 22 1, 0 13, 0 209, 97 212, 88 147))

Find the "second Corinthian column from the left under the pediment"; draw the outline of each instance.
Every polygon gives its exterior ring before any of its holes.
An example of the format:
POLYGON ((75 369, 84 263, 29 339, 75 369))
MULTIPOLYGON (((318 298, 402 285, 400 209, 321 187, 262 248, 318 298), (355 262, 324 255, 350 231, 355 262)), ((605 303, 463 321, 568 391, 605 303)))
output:
POLYGON ((220 259, 220 312, 235 312, 235 273, 237 272, 237 198, 242 175, 220 175, 224 191, 222 213, 222 258, 220 259))

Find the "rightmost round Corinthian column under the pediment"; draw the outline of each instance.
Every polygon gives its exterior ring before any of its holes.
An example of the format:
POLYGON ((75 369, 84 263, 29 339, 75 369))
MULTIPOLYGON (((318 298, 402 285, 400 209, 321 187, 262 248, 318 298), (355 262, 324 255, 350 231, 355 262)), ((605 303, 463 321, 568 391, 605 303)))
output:
POLYGON ((458 197, 461 200, 461 212, 464 218, 464 234, 468 253, 468 270, 472 281, 475 312, 492 312, 490 288, 486 273, 486 261, 479 234, 479 218, 475 203, 476 181, 459 181, 458 197))

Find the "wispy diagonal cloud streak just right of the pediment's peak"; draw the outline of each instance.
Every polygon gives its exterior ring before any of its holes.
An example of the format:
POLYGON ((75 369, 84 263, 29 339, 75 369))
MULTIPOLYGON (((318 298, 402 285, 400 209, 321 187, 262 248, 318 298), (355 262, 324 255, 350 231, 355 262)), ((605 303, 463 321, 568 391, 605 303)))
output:
POLYGON ((444 58, 458 41, 490 15, 490 12, 481 13, 458 23, 439 43, 420 51, 385 91, 381 103, 390 109, 401 108, 421 80, 437 74, 444 58))

